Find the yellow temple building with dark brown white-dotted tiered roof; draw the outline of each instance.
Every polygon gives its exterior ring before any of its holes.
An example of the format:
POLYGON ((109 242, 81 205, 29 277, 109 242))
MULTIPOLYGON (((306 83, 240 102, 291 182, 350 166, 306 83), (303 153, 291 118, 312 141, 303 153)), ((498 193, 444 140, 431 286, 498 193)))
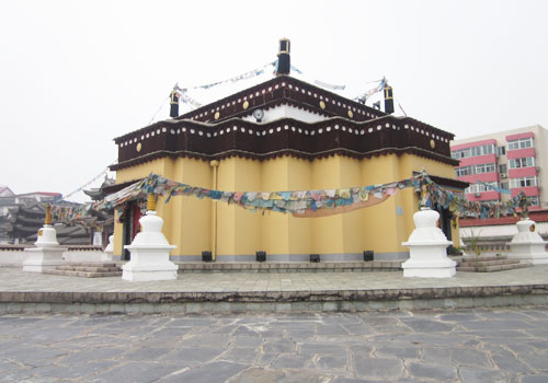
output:
MULTIPOLYGON (((425 170, 437 184, 463 192, 452 159, 454 135, 411 117, 396 117, 391 88, 385 112, 292 78, 289 40, 279 44, 276 76, 263 83, 117 137, 116 186, 150 173, 204 188, 230 192, 341 189, 406 179, 425 170), (387 113, 388 112, 388 113, 387 113)), ((175 100, 175 101, 173 101, 175 100)), ((329 217, 253 212, 220 201, 172 197, 158 204, 175 262, 406 259, 419 193, 398 192, 383 204, 329 217)), ((144 211, 139 200, 118 207, 114 255, 127 259, 144 211)), ((458 225, 441 211, 439 225, 458 241, 458 225)), ((456 242, 458 244, 458 242, 456 242)))

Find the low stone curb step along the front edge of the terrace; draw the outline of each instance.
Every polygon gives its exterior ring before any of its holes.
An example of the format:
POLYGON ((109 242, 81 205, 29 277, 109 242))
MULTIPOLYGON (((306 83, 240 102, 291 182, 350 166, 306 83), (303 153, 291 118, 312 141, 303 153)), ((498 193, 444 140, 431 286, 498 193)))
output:
POLYGON ((548 305, 548 285, 241 292, 0 292, 0 314, 356 312, 548 305))

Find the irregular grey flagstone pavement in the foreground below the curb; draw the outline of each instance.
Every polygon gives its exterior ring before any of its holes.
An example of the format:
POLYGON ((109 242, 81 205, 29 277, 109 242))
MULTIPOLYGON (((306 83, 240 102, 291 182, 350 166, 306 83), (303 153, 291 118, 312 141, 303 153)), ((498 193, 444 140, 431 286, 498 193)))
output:
POLYGON ((548 309, 0 315, 0 382, 548 382, 548 309))

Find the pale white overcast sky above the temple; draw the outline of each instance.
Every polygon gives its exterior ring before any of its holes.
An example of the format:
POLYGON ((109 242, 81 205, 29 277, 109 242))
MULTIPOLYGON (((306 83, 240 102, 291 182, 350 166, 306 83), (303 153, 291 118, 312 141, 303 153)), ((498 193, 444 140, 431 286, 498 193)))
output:
POLYGON ((78 189, 115 161, 113 138, 162 104, 168 118, 175 82, 261 67, 281 37, 304 80, 353 97, 386 77, 409 116, 457 138, 548 128, 547 19, 541 0, 1 1, 0 185, 78 189))

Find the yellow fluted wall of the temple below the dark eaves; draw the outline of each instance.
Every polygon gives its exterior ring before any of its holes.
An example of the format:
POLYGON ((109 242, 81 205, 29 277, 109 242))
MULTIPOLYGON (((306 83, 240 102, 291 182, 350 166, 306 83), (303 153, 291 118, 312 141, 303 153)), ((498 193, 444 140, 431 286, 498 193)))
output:
MULTIPOLYGON (((279 192, 347 188, 396 182, 425 169, 429 174, 453 177, 454 167, 410 154, 355 160, 345 156, 306 161, 283 156, 269 161, 239 158, 221 160, 217 189, 227 192, 279 192)), ((147 176, 150 172, 193 186, 213 187, 213 167, 206 161, 161 159, 121 170, 117 183, 147 176)), ((385 202, 345 214, 295 218, 290 214, 252 212, 225 202, 195 197, 172 197, 158 204, 164 219, 163 233, 178 247, 172 255, 199 255, 213 251, 212 207, 217 209, 217 255, 407 253, 401 245, 414 229, 412 214, 418 197, 399 190, 385 202), (397 214, 402 212, 402 214, 397 214)), ((453 232, 454 241, 458 230, 453 232)), ((456 241, 455 241, 456 242, 456 241)), ((115 253, 122 252, 122 225, 115 225, 115 253)))

